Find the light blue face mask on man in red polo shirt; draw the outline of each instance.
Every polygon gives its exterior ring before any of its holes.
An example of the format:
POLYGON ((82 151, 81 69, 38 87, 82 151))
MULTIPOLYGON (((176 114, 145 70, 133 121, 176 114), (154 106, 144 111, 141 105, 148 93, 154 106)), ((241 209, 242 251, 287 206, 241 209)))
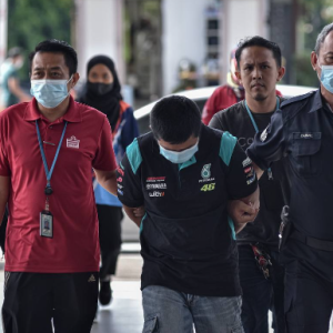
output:
POLYGON ((67 80, 31 80, 30 93, 47 109, 57 108, 68 95, 67 80))

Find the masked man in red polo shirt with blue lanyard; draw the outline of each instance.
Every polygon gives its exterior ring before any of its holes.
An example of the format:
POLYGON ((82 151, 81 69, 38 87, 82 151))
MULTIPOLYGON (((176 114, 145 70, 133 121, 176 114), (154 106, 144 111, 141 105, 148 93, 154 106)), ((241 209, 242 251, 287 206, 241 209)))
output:
POLYGON ((105 115, 74 102, 78 59, 50 40, 30 54, 31 102, 0 114, 0 218, 9 222, 2 319, 6 332, 90 332, 99 241, 91 169, 117 194, 105 115))

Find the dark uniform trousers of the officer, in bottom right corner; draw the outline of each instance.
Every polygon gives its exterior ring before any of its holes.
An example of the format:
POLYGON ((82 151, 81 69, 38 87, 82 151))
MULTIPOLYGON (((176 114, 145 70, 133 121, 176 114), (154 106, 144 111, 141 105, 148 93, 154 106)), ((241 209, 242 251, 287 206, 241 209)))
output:
POLYGON ((333 282, 311 265, 293 261, 285 265, 284 291, 287 333, 327 333, 333 310, 333 282))

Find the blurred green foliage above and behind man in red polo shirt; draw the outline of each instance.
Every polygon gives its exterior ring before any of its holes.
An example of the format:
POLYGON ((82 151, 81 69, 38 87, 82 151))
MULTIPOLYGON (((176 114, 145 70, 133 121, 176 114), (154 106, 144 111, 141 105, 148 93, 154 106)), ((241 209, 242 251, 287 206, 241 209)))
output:
MULTIPOLYGON (((8 49, 21 47, 28 56, 47 39, 71 42, 73 7, 73 0, 9 0, 8 49)), ((27 61, 21 72, 27 79, 27 61)))

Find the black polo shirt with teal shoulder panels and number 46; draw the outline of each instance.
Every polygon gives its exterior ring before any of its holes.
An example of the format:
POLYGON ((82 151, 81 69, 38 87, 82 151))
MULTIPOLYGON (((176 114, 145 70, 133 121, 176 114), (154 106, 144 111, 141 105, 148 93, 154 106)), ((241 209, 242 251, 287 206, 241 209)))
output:
POLYGON ((255 173, 236 139, 202 125, 199 151, 182 164, 160 154, 152 133, 127 150, 119 199, 144 204, 142 285, 163 285, 203 296, 241 294, 238 252, 226 201, 252 194, 255 173))

